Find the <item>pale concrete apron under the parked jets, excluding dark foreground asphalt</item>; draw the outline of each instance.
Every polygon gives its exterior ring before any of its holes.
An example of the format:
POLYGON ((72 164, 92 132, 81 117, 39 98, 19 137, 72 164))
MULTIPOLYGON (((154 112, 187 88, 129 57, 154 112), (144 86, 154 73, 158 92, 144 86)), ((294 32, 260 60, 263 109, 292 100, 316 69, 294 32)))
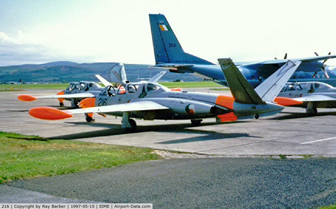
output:
MULTIPOLYGON (((229 94, 194 88, 196 91, 229 94)), ((187 90, 187 89, 186 89, 187 90)), ((154 149, 208 155, 321 155, 336 156, 336 109, 318 109, 309 117, 305 109, 286 107, 276 115, 259 119, 215 123, 205 119, 193 127, 190 120, 136 120, 135 133, 121 129, 121 117, 94 115, 96 122, 87 123, 77 114, 65 120, 40 120, 28 114, 36 106, 59 108, 55 99, 19 101, 19 94, 50 95, 58 90, 0 92, 0 130, 51 139, 69 139, 107 144, 151 147, 154 149)), ((70 103, 65 102, 70 108, 70 103)))

